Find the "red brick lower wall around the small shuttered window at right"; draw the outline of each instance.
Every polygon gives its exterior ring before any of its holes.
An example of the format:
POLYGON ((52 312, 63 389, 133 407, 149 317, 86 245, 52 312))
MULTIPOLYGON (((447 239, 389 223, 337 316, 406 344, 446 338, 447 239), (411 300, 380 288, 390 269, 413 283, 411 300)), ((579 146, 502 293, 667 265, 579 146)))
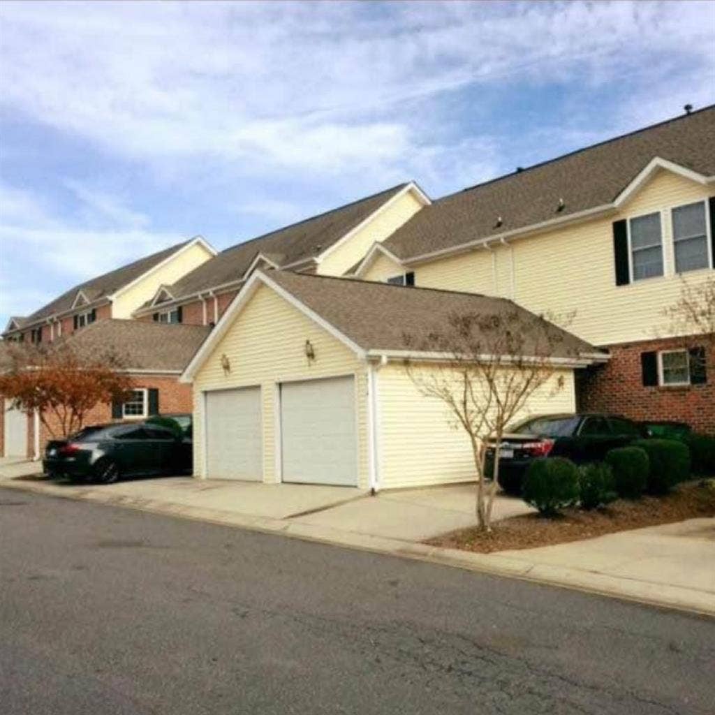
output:
POLYGON ((673 338, 607 346, 611 360, 606 365, 577 373, 578 409, 616 413, 633 420, 676 420, 699 432, 715 434, 715 359, 708 361, 710 369, 704 385, 643 385, 641 352, 696 344, 696 338, 673 338))

